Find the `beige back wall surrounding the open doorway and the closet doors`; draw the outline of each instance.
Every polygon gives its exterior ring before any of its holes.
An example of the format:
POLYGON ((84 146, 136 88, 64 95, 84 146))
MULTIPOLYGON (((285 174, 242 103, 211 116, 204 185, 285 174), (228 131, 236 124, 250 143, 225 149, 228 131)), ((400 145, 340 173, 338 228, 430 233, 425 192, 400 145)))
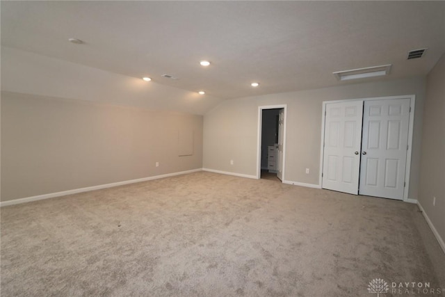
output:
POLYGON ((409 198, 419 191, 425 77, 227 100, 204 115, 204 168, 257 175, 258 106, 287 104, 285 179, 318 184, 322 103, 328 100, 416 95, 409 198), (234 160, 231 165, 229 160, 234 160), (305 173, 305 168, 310 173, 305 173))

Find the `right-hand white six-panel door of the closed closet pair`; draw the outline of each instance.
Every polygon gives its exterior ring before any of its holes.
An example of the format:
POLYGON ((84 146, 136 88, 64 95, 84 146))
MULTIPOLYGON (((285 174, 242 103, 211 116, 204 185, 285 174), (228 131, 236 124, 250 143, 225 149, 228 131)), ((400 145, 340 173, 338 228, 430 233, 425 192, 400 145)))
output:
POLYGON ((410 99, 364 102, 359 194, 403 200, 410 99))

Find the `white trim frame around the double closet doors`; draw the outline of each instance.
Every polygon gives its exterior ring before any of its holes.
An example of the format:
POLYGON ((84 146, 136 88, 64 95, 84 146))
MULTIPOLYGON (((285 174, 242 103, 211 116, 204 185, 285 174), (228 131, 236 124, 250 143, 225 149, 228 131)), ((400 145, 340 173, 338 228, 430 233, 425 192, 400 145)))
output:
POLYGON ((414 131, 414 111, 416 106, 416 95, 402 95, 402 96, 387 96, 387 97, 370 97, 370 98, 357 98, 357 99, 343 99, 343 100, 332 100, 323 101, 323 112, 321 113, 321 149, 320 149, 320 175, 318 177, 318 183, 323 186, 322 173, 323 173, 323 156, 324 156, 324 141, 325 141, 325 113, 326 104, 330 103, 341 103, 350 101, 369 101, 369 100, 386 100, 386 99, 410 99, 410 124, 408 127, 408 149, 406 154, 406 168, 405 168, 405 190, 403 191, 403 201, 405 202, 415 202, 415 199, 410 199, 408 193, 410 192, 410 172, 411 172, 411 157, 412 157, 412 134, 414 131))

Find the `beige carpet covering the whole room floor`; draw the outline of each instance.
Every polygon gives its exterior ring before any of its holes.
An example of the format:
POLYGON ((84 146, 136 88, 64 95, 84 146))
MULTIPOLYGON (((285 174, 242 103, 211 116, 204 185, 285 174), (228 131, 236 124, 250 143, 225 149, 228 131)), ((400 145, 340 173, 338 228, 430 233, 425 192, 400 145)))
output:
POLYGON ((415 204, 265 179, 196 172, 1 208, 1 296, 377 296, 375 278, 445 288, 444 266, 415 204))

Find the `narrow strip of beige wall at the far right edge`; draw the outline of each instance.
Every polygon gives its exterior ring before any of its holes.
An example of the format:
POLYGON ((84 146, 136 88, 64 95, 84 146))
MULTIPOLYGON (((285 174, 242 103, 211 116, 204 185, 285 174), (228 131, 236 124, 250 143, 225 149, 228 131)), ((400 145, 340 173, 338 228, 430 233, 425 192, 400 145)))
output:
MULTIPOLYGON (((423 112, 419 203, 445 241, 445 54, 428 74, 423 112), (433 197, 436 198, 433 205, 433 197)), ((445 248, 444 246, 442 248, 445 248)), ((445 250, 444 250, 445 251, 445 250)))

